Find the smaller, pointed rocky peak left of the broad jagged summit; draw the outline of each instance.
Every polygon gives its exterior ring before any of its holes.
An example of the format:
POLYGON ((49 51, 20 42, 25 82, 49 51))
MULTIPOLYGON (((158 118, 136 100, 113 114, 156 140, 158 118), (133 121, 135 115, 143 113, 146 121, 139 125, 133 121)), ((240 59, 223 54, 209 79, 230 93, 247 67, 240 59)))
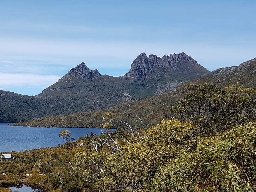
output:
POLYGON ((84 62, 72 68, 65 76, 61 79, 65 81, 73 81, 79 79, 93 79, 100 78, 101 74, 97 69, 90 70, 84 62))

